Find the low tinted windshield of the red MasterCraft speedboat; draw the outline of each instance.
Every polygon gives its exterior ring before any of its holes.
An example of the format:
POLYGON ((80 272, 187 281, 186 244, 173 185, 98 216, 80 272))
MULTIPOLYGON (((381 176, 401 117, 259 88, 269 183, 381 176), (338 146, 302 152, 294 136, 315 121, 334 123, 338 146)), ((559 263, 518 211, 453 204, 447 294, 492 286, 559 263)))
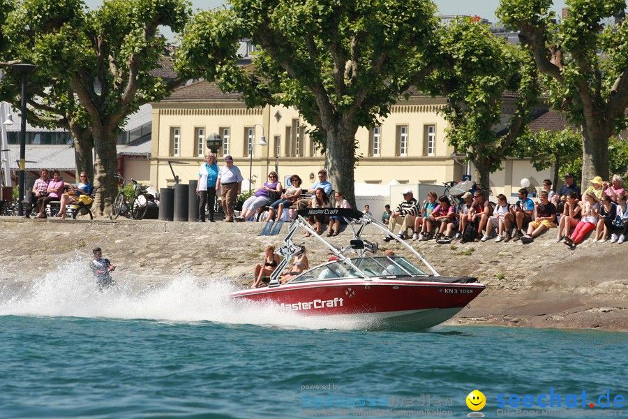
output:
MULTIPOLYGON (((391 277, 397 275, 426 275, 418 267, 412 265, 410 261, 402 256, 375 256, 352 258, 351 262, 356 265, 368 277, 391 277)), ((290 281, 291 284, 308 281, 324 281, 327 279, 355 278, 361 277, 352 267, 341 260, 325 263, 313 267, 290 281)))

